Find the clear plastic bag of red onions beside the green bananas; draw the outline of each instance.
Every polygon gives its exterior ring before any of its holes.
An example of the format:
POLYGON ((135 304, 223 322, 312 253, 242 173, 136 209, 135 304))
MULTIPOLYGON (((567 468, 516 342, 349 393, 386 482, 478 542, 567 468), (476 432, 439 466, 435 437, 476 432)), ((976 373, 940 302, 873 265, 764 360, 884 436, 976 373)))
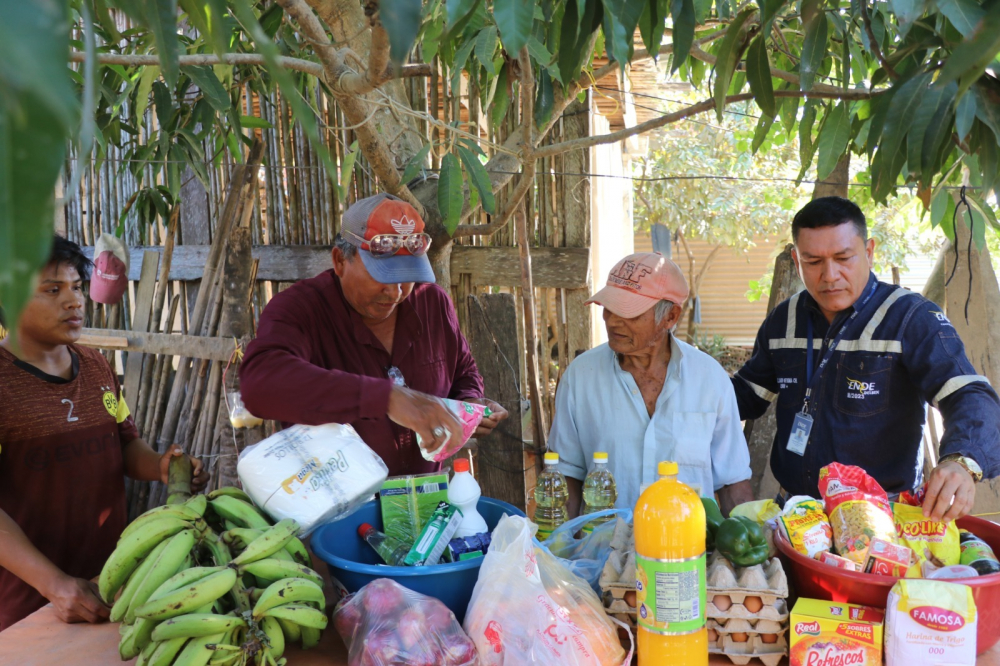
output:
POLYGON ((349 666, 476 664, 476 648, 454 613, 388 578, 342 599, 333 625, 347 645, 349 666))

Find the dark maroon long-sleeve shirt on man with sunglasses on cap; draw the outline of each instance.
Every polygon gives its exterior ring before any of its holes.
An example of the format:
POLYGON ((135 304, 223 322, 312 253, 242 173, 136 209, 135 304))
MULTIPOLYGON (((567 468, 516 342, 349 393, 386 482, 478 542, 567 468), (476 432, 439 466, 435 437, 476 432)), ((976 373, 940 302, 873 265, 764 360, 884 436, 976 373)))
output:
POLYGON ((398 307, 390 356, 332 270, 277 294, 240 368, 247 409, 286 424, 349 423, 390 475, 439 469, 420 455, 413 432, 386 416, 389 368, 409 388, 439 398, 482 398, 483 380, 443 289, 417 285, 398 307))

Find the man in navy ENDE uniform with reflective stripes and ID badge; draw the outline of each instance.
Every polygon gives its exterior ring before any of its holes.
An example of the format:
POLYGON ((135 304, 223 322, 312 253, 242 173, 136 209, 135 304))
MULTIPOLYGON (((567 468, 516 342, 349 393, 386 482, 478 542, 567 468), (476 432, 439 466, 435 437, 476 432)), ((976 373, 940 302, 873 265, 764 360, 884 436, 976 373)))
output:
POLYGON ((792 238, 805 291, 768 315, 752 358, 733 377, 741 418, 759 418, 778 401, 775 478, 790 494, 818 497, 820 468, 840 462, 861 467, 890 494, 915 490, 930 403, 945 428, 924 514, 968 514, 975 484, 1000 475, 1000 400, 989 380, 976 374, 937 305, 875 278, 875 241, 856 205, 809 202, 792 221, 792 238))

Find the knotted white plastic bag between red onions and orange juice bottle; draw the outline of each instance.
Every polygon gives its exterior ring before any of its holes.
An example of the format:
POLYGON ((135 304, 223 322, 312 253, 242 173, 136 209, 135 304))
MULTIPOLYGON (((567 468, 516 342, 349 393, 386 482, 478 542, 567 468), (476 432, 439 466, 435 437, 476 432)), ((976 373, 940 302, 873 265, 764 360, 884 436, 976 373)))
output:
POLYGON ((504 516, 469 601, 465 630, 483 666, 619 666, 632 659, 600 599, 579 576, 535 548, 535 526, 504 516))

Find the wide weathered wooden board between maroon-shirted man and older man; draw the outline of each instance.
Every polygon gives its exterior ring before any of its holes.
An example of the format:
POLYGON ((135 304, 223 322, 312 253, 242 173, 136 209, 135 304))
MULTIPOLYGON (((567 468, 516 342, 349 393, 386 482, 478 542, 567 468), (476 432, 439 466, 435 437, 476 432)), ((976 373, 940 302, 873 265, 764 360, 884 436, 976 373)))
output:
MULTIPOLYGON (((469 346, 483 376, 486 396, 510 416, 477 442, 477 476, 483 494, 519 509, 526 506, 527 459, 521 433, 521 373, 518 362, 517 306, 513 294, 469 296, 469 346)), ((532 474, 533 477, 533 474, 532 474)))

